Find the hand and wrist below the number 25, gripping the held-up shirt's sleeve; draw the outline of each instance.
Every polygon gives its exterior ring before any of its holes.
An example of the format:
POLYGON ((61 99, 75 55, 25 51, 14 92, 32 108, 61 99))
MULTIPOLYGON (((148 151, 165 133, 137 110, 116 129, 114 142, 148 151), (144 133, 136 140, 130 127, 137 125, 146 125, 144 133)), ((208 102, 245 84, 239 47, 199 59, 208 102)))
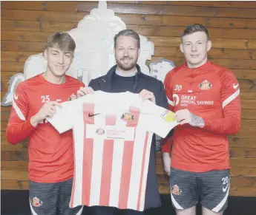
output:
POLYGON ((46 102, 42 106, 42 108, 39 109, 39 112, 37 112, 36 115, 33 115, 33 117, 30 118, 30 123, 32 124, 32 126, 36 127, 38 123, 42 120, 45 120, 46 117, 53 117, 56 112, 56 106, 62 108, 62 105, 56 101, 46 102))

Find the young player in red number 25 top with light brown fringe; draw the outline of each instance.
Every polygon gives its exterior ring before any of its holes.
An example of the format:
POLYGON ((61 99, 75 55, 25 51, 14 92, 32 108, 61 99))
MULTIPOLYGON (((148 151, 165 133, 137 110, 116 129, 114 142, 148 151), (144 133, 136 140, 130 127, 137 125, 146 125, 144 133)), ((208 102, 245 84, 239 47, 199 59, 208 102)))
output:
MULTIPOLYGON (((68 33, 47 38, 47 69, 17 86, 7 126, 7 140, 16 144, 29 138, 28 175, 32 214, 82 214, 82 208, 69 208, 73 180, 73 135, 59 134, 45 119, 56 106, 76 98, 84 84, 65 73, 73 61, 76 44, 68 33)), ((67 113, 68 114, 68 113, 67 113)))

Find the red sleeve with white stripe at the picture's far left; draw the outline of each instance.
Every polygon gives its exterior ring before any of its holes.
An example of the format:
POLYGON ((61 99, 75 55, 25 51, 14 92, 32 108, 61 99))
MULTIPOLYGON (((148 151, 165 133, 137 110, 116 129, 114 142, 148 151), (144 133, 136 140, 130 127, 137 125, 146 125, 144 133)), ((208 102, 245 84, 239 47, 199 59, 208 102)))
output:
POLYGON ((10 112, 6 129, 7 140, 11 144, 19 143, 26 139, 36 129, 27 118, 29 106, 23 83, 19 83, 13 95, 13 107, 10 112))

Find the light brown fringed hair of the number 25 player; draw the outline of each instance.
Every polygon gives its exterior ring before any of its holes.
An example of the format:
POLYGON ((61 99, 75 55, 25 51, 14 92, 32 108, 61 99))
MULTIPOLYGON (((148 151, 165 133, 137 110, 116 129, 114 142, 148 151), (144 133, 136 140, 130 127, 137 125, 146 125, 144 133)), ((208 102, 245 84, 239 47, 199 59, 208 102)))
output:
POLYGON ((60 50, 74 52, 76 50, 76 42, 68 33, 53 33, 47 38, 45 50, 57 45, 60 50))

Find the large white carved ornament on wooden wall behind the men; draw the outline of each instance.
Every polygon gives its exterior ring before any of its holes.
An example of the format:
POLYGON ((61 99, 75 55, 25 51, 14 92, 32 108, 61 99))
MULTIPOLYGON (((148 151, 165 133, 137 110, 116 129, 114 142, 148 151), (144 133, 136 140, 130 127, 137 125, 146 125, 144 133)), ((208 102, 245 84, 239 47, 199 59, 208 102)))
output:
MULTIPOLYGON (((85 85, 93 78, 105 75, 111 66, 116 64, 114 58, 114 35, 125 30, 126 25, 121 18, 114 16, 114 11, 107 9, 106 1, 99 1, 99 6, 91 10, 90 15, 79 21, 75 29, 68 31, 76 42, 73 64, 71 64, 67 75, 79 78, 85 85)), ((163 81, 170 69, 170 61, 157 61, 151 63, 151 71, 145 62, 151 60, 154 55, 154 43, 147 41, 145 36, 140 35, 140 57, 137 64, 142 72, 152 75, 163 81), (166 64, 165 62, 168 62, 166 64), (162 66, 161 66, 162 65, 162 66)), ((24 72, 17 73, 10 78, 9 88, 1 106, 10 106, 13 102, 13 92, 18 83, 45 72, 47 61, 43 53, 31 55, 24 64, 24 72)))

